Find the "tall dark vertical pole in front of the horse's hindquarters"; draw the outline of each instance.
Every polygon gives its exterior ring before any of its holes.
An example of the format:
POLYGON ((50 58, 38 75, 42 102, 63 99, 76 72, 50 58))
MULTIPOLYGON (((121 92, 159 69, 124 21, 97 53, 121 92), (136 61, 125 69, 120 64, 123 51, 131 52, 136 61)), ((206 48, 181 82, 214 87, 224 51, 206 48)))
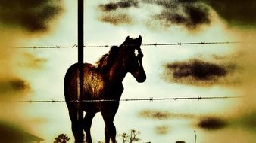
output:
POLYGON ((81 96, 83 96, 83 0, 78 0, 78 66, 79 66, 79 74, 78 74, 78 82, 77 85, 77 100, 78 100, 78 113, 77 113, 77 120, 81 126, 79 132, 80 141, 78 143, 83 143, 83 110, 81 109, 82 102, 81 96))

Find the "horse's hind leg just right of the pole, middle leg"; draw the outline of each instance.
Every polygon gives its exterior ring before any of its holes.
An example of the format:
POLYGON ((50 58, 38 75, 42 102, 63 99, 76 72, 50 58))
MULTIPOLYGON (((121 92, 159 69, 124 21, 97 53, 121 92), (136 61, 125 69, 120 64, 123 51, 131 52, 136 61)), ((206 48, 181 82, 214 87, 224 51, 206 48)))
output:
POLYGON ((86 112, 86 117, 83 119, 83 129, 86 132, 86 142, 92 143, 91 136, 91 126, 92 126, 92 118, 95 116, 95 112, 86 112))

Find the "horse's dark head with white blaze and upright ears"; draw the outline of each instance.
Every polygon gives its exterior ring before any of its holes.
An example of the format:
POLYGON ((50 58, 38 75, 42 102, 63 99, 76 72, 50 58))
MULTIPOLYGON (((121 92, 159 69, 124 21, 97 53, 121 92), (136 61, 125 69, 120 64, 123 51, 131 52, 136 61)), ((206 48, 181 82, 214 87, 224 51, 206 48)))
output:
POLYGON ((146 79, 145 71, 142 65, 143 53, 140 48, 142 44, 142 37, 130 38, 126 37, 126 40, 121 45, 123 47, 123 66, 126 67, 127 71, 130 72, 136 81, 142 83, 146 79))

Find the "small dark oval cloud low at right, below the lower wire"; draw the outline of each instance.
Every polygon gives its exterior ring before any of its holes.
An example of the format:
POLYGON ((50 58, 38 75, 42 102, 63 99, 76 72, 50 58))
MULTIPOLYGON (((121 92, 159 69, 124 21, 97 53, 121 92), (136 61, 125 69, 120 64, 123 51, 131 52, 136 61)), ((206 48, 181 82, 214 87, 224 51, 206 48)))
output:
POLYGON ((218 117, 204 117, 199 121, 198 126, 202 129, 217 130, 228 126, 228 122, 218 117))

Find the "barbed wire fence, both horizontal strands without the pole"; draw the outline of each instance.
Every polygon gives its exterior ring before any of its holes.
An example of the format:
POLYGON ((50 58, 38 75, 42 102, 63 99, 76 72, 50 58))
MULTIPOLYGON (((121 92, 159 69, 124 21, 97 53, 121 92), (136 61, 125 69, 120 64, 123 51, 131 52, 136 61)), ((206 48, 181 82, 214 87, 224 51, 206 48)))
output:
MULTIPOLYGON (((187 42, 187 43, 155 43, 155 44, 141 44, 142 47, 158 47, 158 46, 183 46, 183 45, 206 45, 206 44, 242 44, 241 41, 214 41, 214 42, 187 42)), ((117 45, 111 45, 111 44, 105 44, 105 45, 85 45, 86 47, 113 47, 117 45)), ((73 44, 73 46, 32 46, 32 47, 14 47, 15 49, 61 49, 61 48, 77 48, 78 46, 76 44, 73 44)), ((17 103, 61 103, 61 102, 139 102, 139 101, 166 101, 166 100, 202 100, 202 99, 238 99, 242 98, 242 96, 208 96, 208 97, 170 97, 170 98, 145 98, 145 99, 98 99, 98 100, 72 100, 72 101, 65 101, 65 100, 23 100, 23 101, 15 101, 17 103)))

